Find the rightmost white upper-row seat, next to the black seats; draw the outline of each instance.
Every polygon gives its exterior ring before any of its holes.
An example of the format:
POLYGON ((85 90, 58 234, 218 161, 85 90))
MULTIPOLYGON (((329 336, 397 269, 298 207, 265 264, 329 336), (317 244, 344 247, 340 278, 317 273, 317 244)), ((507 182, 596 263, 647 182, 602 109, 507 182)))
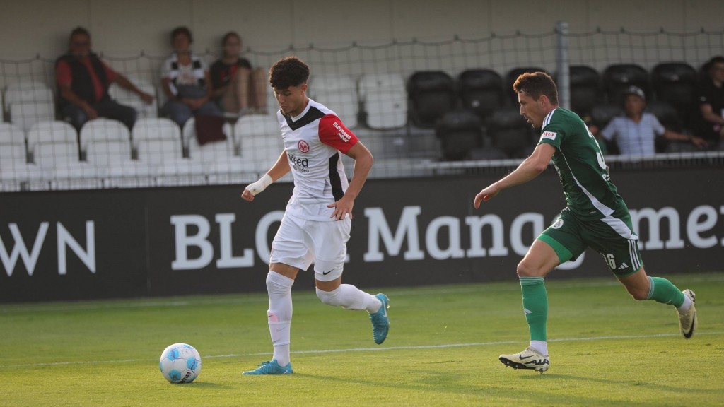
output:
POLYGON ((362 116, 367 127, 394 129, 407 124, 405 80, 399 74, 368 74, 359 80, 362 116))

